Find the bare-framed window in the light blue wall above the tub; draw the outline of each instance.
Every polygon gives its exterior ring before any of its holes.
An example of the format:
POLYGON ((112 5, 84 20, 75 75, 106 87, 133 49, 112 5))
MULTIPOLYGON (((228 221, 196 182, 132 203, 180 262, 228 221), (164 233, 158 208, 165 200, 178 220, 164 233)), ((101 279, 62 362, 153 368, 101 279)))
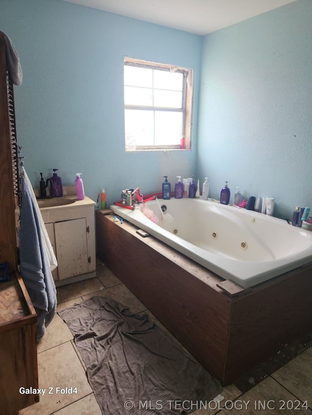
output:
POLYGON ((192 95, 192 69, 125 57, 126 150, 191 148, 192 95))

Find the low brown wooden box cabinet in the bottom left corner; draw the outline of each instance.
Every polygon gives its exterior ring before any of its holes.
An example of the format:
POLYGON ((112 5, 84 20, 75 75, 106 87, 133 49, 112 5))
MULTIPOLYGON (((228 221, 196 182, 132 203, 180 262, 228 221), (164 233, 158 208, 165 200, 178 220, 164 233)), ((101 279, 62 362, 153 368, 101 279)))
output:
POLYGON ((20 388, 38 389, 37 315, 18 272, 0 286, 0 415, 17 415, 39 401, 36 394, 20 388))

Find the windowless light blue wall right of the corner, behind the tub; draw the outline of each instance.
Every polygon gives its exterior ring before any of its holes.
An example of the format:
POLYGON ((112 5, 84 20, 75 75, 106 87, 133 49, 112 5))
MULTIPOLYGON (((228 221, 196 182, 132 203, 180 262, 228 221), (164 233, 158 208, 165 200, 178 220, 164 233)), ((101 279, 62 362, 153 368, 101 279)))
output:
MULTIPOLYGON (((197 176, 275 198, 275 215, 312 208, 312 1, 203 38, 197 176)), ((274 216, 275 216, 274 215, 274 216)))

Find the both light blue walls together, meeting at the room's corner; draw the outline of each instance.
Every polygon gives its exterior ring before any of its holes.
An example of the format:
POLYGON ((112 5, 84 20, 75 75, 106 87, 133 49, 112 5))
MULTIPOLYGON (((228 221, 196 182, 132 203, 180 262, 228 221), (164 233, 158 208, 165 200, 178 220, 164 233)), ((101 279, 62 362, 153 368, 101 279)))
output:
MULTIPOLYGON (((312 3, 297 0, 199 36, 63 0, 2 0, 20 56, 18 141, 33 187, 58 168, 86 196, 159 192, 163 176, 206 176, 218 198, 273 197, 274 216, 312 207, 312 3), (193 68, 192 148, 125 151, 123 58, 193 68)), ((232 200, 231 200, 232 201, 232 200)))

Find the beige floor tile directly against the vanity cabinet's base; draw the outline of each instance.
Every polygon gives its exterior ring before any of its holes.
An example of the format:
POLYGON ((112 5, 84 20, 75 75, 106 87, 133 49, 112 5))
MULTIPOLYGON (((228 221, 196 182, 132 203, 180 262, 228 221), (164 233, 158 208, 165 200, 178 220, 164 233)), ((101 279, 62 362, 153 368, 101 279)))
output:
POLYGON ((57 288, 58 304, 64 301, 69 301, 82 295, 96 292, 99 289, 103 289, 103 284, 98 278, 91 278, 85 281, 79 281, 75 284, 68 284, 57 288))

